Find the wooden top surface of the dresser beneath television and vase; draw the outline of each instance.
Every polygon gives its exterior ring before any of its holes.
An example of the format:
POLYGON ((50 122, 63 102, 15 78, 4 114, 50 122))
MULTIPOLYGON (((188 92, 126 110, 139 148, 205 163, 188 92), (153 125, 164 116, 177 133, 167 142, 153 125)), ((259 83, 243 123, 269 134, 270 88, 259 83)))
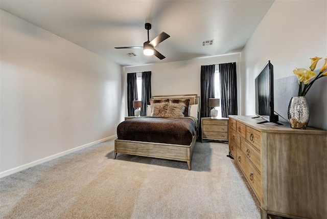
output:
POLYGON ((255 116, 236 116, 236 115, 229 116, 229 118, 243 122, 246 125, 250 126, 251 128, 259 130, 260 132, 327 135, 326 130, 313 128, 313 127, 307 127, 307 129, 291 128, 287 122, 279 121, 279 123, 282 123, 283 125, 278 125, 272 122, 258 124, 258 122, 263 122, 265 120, 262 118, 253 118, 253 117, 255 116))

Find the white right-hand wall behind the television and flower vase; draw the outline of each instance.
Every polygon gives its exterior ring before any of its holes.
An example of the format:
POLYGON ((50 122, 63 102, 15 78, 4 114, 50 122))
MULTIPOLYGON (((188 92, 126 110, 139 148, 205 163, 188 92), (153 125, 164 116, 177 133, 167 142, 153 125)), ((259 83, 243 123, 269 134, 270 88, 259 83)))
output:
MULTIPOLYGON (((309 68, 311 57, 327 56, 327 1, 275 1, 241 54, 241 112, 254 115, 254 78, 264 64, 274 65, 275 111, 287 119, 298 85, 293 70, 309 68)), ((318 71, 324 60, 318 62, 318 71)), ((307 94, 309 126, 327 129, 327 77, 307 94)), ((284 121, 282 118, 279 120, 284 121)))

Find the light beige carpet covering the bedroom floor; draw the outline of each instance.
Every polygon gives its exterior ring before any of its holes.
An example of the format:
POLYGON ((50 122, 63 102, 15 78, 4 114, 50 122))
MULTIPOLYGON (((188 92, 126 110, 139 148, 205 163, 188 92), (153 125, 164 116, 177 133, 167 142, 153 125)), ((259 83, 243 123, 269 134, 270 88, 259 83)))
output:
POLYGON ((192 170, 113 150, 109 140, 0 179, 0 217, 260 218, 228 144, 196 142, 192 170))

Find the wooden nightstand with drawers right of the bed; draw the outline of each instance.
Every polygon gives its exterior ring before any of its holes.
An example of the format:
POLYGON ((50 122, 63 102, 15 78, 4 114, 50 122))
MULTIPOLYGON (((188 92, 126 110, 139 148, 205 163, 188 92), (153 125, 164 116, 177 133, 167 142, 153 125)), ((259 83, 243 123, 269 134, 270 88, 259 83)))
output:
POLYGON ((203 140, 228 141, 228 118, 211 117, 201 118, 201 129, 203 140))

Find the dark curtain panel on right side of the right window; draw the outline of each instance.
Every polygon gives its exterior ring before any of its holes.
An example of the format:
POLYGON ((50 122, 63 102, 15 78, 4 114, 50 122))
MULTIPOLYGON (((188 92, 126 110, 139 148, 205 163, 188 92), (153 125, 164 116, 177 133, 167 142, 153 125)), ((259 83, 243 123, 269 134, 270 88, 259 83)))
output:
POLYGON ((237 115, 236 62, 219 64, 221 116, 237 115))

